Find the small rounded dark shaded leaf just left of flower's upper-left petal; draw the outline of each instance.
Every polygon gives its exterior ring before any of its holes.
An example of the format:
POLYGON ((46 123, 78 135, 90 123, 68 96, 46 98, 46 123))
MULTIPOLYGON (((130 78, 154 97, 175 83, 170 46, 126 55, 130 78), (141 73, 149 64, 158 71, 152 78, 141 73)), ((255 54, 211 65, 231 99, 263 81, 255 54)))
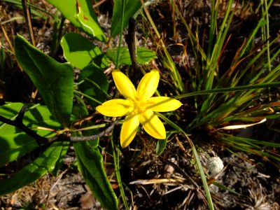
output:
MULTIPOLYGON (((98 102, 104 102, 109 88, 109 82, 102 69, 94 65, 89 65, 80 73, 80 81, 84 80, 78 87, 79 90, 98 102)), ((88 99, 87 102, 92 106, 97 106, 97 102, 88 99)))

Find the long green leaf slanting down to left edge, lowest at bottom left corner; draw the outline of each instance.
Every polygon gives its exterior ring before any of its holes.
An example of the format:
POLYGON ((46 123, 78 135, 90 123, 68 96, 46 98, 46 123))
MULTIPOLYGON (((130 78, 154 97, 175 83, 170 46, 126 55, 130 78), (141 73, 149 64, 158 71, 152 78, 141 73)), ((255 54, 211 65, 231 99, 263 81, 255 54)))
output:
POLYGON ((1 179, 0 195, 12 193, 19 188, 36 181, 36 179, 39 179, 47 172, 52 172, 52 170, 55 169, 57 160, 59 160, 62 146, 62 141, 53 143, 43 152, 42 155, 36 158, 34 162, 11 175, 7 179, 1 179))

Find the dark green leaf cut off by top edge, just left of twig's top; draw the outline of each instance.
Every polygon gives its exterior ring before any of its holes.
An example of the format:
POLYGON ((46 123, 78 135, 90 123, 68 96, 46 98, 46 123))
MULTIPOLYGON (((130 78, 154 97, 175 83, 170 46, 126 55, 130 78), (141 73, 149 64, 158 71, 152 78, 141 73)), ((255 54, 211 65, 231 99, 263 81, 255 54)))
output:
POLYGON ((141 8, 140 0, 115 0, 113 6, 113 18, 112 18, 112 28, 111 28, 111 36, 116 36, 120 34, 121 30, 121 21, 120 17, 122 14, 122 2, 125 3, 125 13, 123 16, 123 27, 128 26, 128 20, 132 18, 132 16, 137 13, 137 11, 141 8))

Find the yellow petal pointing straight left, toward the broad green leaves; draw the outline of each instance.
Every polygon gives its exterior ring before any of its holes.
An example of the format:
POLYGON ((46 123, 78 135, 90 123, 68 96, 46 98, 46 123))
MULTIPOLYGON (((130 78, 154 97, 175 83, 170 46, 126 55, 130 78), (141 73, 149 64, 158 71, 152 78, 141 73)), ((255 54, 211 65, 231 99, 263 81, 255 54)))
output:
POLYGON ((96 110, 104 116, 121 117, 132 111, 130 101, 127 99, 113 99, 97 106, 96 110))

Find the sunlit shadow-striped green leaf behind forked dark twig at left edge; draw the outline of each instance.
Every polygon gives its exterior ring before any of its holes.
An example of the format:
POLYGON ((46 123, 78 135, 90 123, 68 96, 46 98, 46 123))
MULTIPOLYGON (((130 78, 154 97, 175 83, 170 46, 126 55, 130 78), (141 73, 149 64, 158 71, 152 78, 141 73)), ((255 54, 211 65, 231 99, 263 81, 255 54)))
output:
MULTIPOLYGON (((18 116, 22 106, 22 103, 10 103, 0 106, 0 116, 13 120, 18 116)), ((50 134, 54 133, 50 130, 43 130, 43 127, 53 130, 58 130, 60 127, 60 124, 52 117, 46 106, 29 107, 22 123, 33 129, 41 137, 49 137, 50 134), (36 129, 39 126, 42 128, 36 129)), ((0 123, 0 133, 0 167, 38 147, 35 139, 12 125, 0 123)))

